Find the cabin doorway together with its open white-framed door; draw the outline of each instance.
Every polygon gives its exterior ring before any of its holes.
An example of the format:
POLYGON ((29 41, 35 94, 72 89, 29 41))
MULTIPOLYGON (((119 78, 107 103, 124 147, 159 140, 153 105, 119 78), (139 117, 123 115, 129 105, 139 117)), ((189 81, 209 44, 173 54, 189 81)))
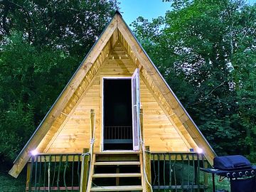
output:
POLYGON ((139 73, 103 78, 103 150, 139 150, 139 73))

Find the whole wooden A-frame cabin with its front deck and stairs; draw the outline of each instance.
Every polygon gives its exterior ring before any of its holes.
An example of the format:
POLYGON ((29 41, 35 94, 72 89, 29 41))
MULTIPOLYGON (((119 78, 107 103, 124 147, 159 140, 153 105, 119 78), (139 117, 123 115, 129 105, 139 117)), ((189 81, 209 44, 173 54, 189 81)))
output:
POLYGON ((117 12, 9 174, 27 164, 27 191, 200 188, 199 166, 214 156, 117 12), (177 183, 184 164, 192 172, 177 183))

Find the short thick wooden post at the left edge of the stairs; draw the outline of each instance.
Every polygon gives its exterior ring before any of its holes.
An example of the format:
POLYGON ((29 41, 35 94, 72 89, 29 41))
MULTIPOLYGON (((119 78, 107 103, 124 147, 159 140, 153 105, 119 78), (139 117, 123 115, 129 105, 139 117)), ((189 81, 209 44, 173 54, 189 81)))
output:
POLYGON ((89 152, 89 149, 82 149, 82 167, 81 167, 81 179, 80 179, 80 192, 85 192, 87 188, 87 179, 89 171, 89 155, 85 155, 89 152))

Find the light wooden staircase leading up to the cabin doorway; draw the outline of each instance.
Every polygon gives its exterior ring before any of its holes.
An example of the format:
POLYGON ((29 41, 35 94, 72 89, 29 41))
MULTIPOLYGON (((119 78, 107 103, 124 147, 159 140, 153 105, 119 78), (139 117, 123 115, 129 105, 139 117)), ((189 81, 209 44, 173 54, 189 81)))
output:
POLYGON ((143 160, 140 151, 93 154, 89 191, 145 191, 143 160))

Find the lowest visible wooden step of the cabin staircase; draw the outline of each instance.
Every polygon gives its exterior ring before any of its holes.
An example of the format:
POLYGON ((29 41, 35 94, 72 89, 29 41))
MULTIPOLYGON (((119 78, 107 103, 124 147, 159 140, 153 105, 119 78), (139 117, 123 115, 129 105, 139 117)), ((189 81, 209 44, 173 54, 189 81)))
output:
POLYGON ((97 186, 90 191, 142 191, 142 186, 97 186))

